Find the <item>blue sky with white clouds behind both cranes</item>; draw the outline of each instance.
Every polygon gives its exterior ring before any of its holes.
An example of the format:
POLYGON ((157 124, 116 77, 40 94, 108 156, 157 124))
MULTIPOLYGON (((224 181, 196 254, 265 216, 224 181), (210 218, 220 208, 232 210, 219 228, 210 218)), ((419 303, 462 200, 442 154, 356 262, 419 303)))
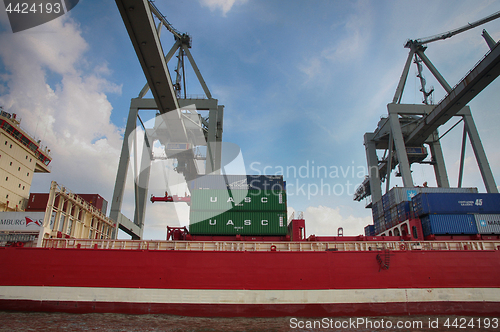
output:
MULTIPOLYGON (((288 208, 304 213, 307 235, 335 235, 339 227, 345 235, 358 235, 372 223, 365 203, 353 201, 367 174, 363 135, 387 115, 408 55, 406 40, 500 10, 498 0, 155 4, 177 30, 192 36, 191 53, 213 97, 225 106, 223 141, 241 149, 248 174, 284 175, 288 208)), ((482 29, 500 40, 497 19, 428 45, 426 55, 451 86, 488 51, 482 29)), ((166 30, 161 41, 165 52, 174 43, 166 30)), ((439 101, 444 90, 427 69, 424 76, 439 101)), ((403 103, 422 102, 418 82, 412 66, 403 103)), ((130 99, 145 83, 114 1, 81 0, 67 14, 17 33, 0 11, 0 106, 16 113, 53 158, 51 173, 36 174, 31 192, 48 192, 54 180, 111 204, 130 99)), ((203 93, 189 70, 187 83, 188 94, 203 93)), ((497 181, 499 88, 496 80, 469 103, 497 181)), ((452 186, 458 181, 462 128, 442 139, 452 186)), ((155 168, 149 193, 162 196, 161 177, 168 170, 155 168)), ((412 171, 415 185, 435 185, 430 166, 414 165, 412 171)), ((400 178, 392 176, 392 185, 402 186, 400 178)), ((463 186, 485 191, 469 144, 463 186)), ((130 171, 122 208, 129 218, 132 190, 130 171)), ((185 193, 182 187, 170 190, 185 193)), ((148 203, 144 238, 165 239, 166 226, 185 225, 187 213, 184 203, 148 203)))

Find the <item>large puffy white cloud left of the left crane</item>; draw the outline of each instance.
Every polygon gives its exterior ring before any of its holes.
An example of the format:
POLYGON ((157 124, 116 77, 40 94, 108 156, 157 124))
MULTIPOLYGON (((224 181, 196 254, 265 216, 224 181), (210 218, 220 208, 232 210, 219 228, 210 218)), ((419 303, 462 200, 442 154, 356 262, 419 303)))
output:
MULTIPOLYGON (((110 122, 106 93, 121 93, 121 86, 106 79, 106 64, 92 68, 86 62, 88 44, 68 15, 24 32, 4 32, 0 43, 9 45, 0 49, 9 72, 0 105, 51 150, 50 179, 74 192, 108 197, 121 129, 110 122)), ((36 176, 34 184, 41 179, 47 177, 36 176)))

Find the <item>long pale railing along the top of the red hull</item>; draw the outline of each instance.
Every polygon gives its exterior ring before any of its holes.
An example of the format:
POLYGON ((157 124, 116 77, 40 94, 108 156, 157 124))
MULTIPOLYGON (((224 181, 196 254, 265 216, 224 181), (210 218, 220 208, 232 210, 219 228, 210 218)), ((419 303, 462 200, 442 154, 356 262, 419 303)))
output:
POLYGON ((179 251, 429 251, 500 250, 500 241, 249 242, 45 239, 44 248, 179 251))

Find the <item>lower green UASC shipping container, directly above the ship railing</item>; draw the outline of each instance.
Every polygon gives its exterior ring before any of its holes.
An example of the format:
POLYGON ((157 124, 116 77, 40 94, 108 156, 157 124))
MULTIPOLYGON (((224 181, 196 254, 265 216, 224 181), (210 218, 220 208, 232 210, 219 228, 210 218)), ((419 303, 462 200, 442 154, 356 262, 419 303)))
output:
POLYGON ((191 210, 193 235, 286 235, 285 212, 222 212, 191 210))

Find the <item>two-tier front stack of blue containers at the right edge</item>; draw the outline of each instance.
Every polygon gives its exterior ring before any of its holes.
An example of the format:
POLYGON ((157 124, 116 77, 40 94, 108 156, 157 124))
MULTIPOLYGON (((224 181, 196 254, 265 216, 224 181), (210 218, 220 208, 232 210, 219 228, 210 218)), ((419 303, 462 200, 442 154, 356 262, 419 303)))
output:
POLYGON ((424 236, 500 234, 500 194, 420 193, 412 205, 424 236))

